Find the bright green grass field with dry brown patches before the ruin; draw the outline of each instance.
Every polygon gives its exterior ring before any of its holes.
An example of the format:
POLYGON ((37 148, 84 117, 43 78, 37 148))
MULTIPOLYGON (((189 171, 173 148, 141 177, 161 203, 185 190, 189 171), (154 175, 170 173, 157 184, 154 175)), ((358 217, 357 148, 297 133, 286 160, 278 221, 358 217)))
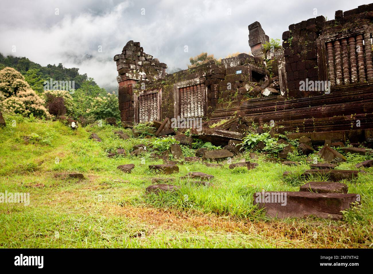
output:
MULTIPOLYGON (((122 140, 119 127, 79 127, 60 122, 6 117, 0 128, 0 192, 29 192, 30 205, 0 204, 2 248, 369 248, 373 246, 373 167, 357 180, 345 182, 349 193, 361 195, 361 207, 341 221, 315 217, 269 219, 253 206, 262 189, 298 191, 299 177, 284 180, 284 171, 309 169, 257 160, 255 170, 179 165, 179 173, 156 174, 148 169, 150 152, 129 155, 144 139, 122 140), (15 127, 12 120, 16 119, 15 127), (103 142, 88 136, 95 132, 103 142), (35 135, 36 134, 36 135, 35 135), (23 136, 29 136, 26 144, 23 136), (123 147, 126 157, 108 158, 123 147), (134 163, 132 173, 116 167, 134 163), (143 161, 144 163, 144 161, 143 161), (55 178, 79 171, 84 180, 55 178), (152 177, 185 176, 202 171, 215 176, 213 187, 176 180, 176 193, 146 194, 152 177)), ((129 130, 124 130, 131 135, 129 130)), ((240 155, 237 160, 248 155, 240 155)), ((356 169, 364 156, 347 155, 338 169, 356 169)), ((317 178, 315 178, 317 179, 317 178)))

